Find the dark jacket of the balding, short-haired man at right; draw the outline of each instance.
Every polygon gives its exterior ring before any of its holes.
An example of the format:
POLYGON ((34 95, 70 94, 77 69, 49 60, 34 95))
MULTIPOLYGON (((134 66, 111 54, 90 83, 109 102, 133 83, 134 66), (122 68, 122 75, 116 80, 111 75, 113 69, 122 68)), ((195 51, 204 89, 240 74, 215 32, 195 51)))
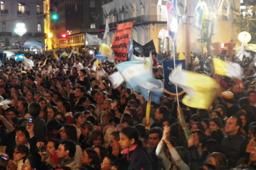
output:
POLYGON ((235 135, 227 135, 222 139, 221 150, 227 157, 230 167, 235 167, 240 157, 245 156, 248 143, 248 139, 241 135, 240 131, 235 135))

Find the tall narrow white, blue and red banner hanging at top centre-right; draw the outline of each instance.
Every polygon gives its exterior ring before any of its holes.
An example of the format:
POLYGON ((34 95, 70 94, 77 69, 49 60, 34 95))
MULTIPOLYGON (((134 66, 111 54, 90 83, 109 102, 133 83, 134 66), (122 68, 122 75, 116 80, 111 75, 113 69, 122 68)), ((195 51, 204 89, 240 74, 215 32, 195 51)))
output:
POLYGON ((168 0, 166 3, 166 8, 168 11, 167 13, 168 33, 171 36, 171 38, 174 38, 178 30, 177 0, 168 0))

